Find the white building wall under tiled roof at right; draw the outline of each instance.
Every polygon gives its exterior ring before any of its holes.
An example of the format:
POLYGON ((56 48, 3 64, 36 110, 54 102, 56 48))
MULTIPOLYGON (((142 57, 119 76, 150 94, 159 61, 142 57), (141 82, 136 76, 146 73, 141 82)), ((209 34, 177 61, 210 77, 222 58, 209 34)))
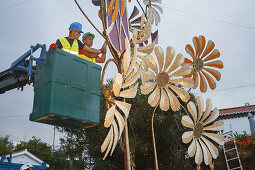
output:
POLYGON ((224 119, 224 132, 230 131, 230 126, 232 126, 233 131, 237 131, 238 133, 246 133, 250 134, 250 123, 247 117, 233 118, 233 119, 224 119))

